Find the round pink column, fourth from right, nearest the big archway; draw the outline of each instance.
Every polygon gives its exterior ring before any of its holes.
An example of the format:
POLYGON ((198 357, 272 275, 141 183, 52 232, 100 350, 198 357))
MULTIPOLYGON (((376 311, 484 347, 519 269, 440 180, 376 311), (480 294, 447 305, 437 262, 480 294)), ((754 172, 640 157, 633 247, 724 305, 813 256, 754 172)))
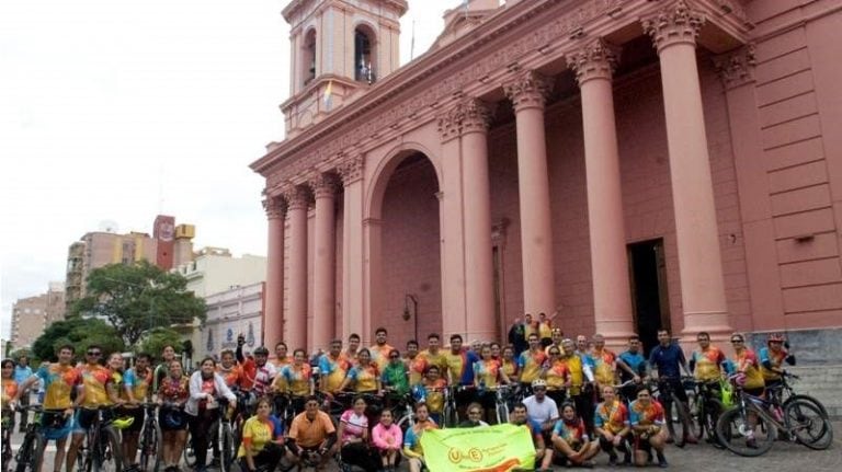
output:
POLYGON ((463 102, 462 182, 465 199, 465 311, 467 338, 499 339, 491 262, 491 184, 488 127, 491 111, 479 100, 463 102))

